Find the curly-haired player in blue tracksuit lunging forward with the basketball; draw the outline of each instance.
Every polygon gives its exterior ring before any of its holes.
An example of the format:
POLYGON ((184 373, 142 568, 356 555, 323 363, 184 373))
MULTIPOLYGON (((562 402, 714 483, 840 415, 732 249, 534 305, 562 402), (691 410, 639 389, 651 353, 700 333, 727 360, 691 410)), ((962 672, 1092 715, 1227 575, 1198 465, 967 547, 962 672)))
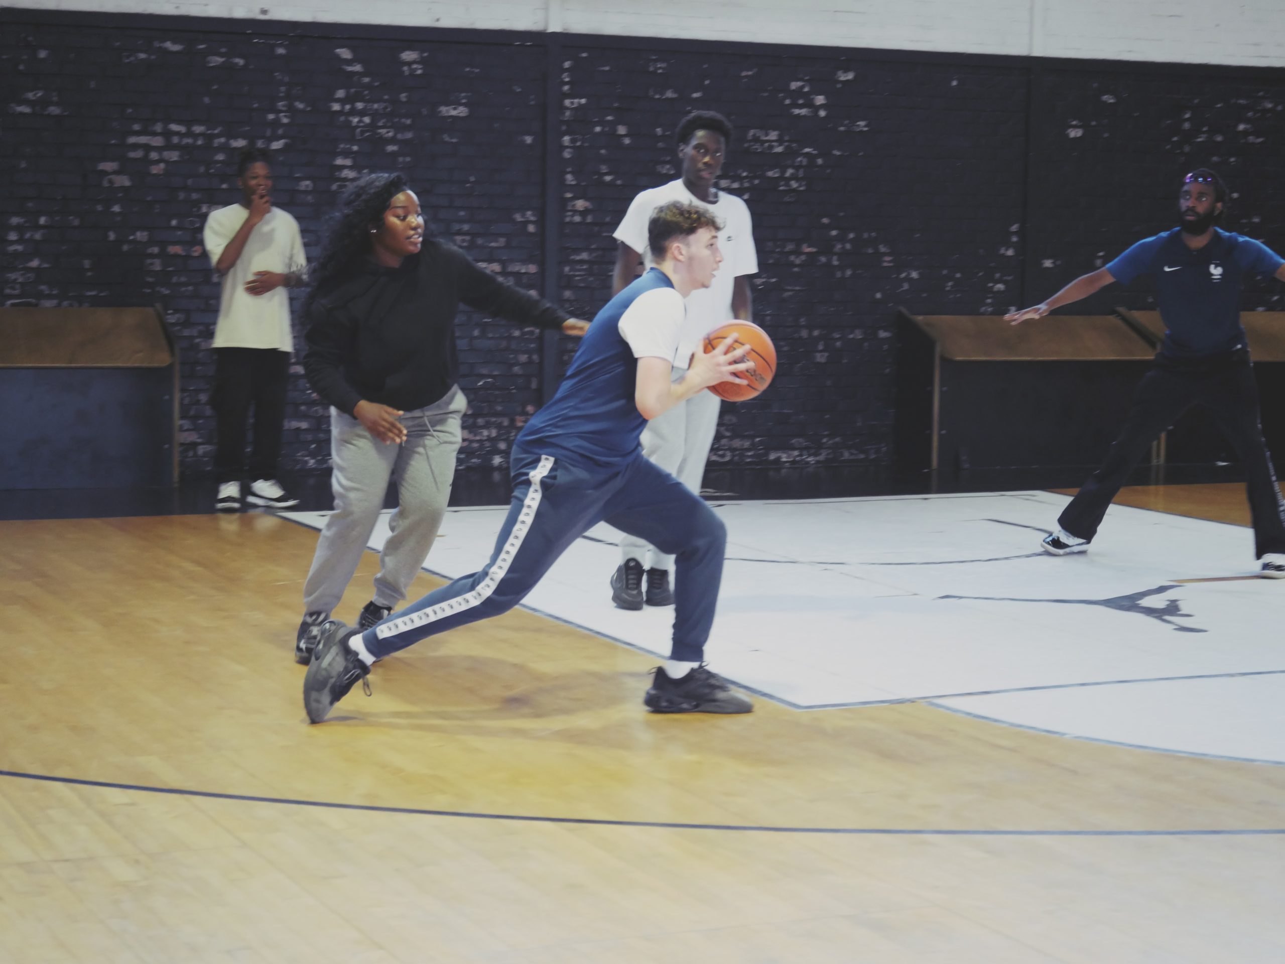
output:
MULTIPOLYGON (((648 225, 655 265, 598 312, 558 393, 527 423, 509 458, 513 501, 486 568, 429 593, 365 632, 332 621, 303 680, 312 722, 365 683, 369 667, 419 640, 508 612, 559 555, 599 522, 673 553, 673 647, 644 703, 667 713, 744 713, 753 707, 705 668, 704 645, 722 578, 726 531, 699 495, 648 461, 649 419, 748 370, 731 341, 698 353, 681 379, 672 360, 684 301, 722 261, 721 225, 705 208, 669 203, 648 225)), ((369 693, 369 686, 368 686, 369 693)))

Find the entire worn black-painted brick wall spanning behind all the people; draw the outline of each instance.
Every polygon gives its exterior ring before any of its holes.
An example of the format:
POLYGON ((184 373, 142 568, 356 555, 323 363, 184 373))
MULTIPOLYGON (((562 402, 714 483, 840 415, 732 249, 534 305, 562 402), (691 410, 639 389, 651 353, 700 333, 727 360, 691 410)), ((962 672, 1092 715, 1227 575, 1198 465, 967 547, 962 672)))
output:
MULTIPOLYGON (((538 287, 545 37, 9 18, 4 299, 166 305, 182 350, 186 474, 208 472, 213 441, 218 288, 200 226, 236 199, 229 165, 243 144, 276 152, 278 203, 311 254, 338 188, 398 168, 441 234, 538 287)), ((888 464, 896 306, 978 314, 1047 297, 1171 226, 1177 177, 1199 163, 1232 184, 1228 226, 1285 249, 1273 163, 1285 72, 563 42, 553 294, 577 314, 609 294, 610 233, 630 199, 676 176, 677 120, 708 107, 738 127, 723 186, 754 216, 756 317, 781 369, 762 398, 723 407, 718 463, 888 464)), ((1149 302, 1139 284, 1085 307, 1149 302)), ((1280 287, 1254 283, 1246 306, 1281 307, 1280 287)), ((470 398, 461 464, 502 465, 538 404, 540 339, 472 312, 459 335, 470 398)), ((572 350, 564 341, 563 364, 572 350)), ((283 470, 321 468, 328 449, 328 415, 296 369, 283 470)))

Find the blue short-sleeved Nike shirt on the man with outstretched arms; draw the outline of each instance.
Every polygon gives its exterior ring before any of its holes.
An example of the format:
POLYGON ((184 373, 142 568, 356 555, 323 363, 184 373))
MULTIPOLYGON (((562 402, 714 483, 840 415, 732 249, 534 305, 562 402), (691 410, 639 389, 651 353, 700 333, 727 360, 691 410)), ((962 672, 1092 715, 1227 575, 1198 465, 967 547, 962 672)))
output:
POLYGON ((1121 284, 1153 275, 1165 326, 1160 355, 1200 359, 1245 347, 1240 324, 1244 276, 1272 275, 1282 263, 1262 242, 1218 228, 1208 244, 1192 251, 1182 240, 1182 229, 1174 228, 1140 240, 1106 270, 1121 284))

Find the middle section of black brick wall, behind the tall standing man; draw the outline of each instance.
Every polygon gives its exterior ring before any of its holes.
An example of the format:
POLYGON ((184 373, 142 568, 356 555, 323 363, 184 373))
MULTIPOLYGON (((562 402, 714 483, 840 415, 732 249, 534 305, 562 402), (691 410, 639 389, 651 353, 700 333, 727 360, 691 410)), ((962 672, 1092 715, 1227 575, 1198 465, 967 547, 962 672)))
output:
POLYGON ((754 219, 754 316, 780 368, 761 398, 723 406, 711 459, 883 463, 893 306, 925 290, 969 314, 1011 299, 1022 78, 1016 66, 572 51, 563 298, 589 311, 609 294, 610 234, 634 194, 677 176, 682 114, 727 114, 723 186, 754 219))

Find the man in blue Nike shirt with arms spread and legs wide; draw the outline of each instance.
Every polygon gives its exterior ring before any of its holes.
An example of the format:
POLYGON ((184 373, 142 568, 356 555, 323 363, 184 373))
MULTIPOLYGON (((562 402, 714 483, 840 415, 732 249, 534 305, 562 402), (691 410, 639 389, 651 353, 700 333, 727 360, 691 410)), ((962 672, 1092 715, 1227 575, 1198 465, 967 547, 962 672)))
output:
POLYGON ((1285 578, 1285 501, 1263 442, 1258 386, 1240 324, 1244 276, 1257 272, 1285 281, 1285 260, 1252 238, 1214 226, 1226 199, 1227 186, 1217 174, 1204 167, 1192 171, 1178 192, 1177 228, 1140 240, 1049 301, 1006 316, 1013 324, 1042 317, 1112 281, 1128 283, 1150 274, 1167 329, 1119 438, 1059 517, 1060 528, 1043 540, 1046 553, 1087 551, 1106 506, 1153 440, 1192 405, 1204 405, 1245 465, 1262 575, 1285 578))

